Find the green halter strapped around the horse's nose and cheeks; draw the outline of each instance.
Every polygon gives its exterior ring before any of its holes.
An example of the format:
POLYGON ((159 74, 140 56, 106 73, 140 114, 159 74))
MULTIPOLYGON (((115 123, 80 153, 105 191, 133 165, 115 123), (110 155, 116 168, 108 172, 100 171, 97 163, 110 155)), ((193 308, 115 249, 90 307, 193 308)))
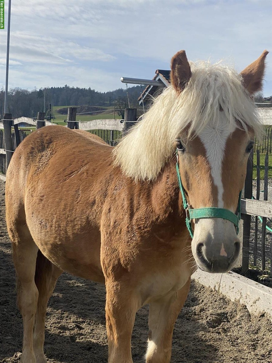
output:
MULTIPOLYGON (((178 154, 177 154, 178 158, 178 154)), ((178 161, 176 164, 177 169, 177 177, 178 177, 178 185, 180 187, 182 200, 183 200, 183 208, 186 212, 186 226, 190 233, 190 236, 193 238, 193 229, 191 227, 191 220, 192 219, 199 219, 199 218, 223 218, 231 221, 236 227, 236 233, 239 233, 239 220, 241 219, 241 196, 242 191, 239 193, 239 200, 238 200, 238 208, 237 208, 237 215, 229 211, 228 209, 224 208, 216 208, 216 207, 206 207, 206 208, 197 208, 191 209, 189 208, 189 204, 187 203, 184 188, 181 182, 180 177, 180 170, 178 168, 178 161), (189 213, 189 214, 188 214, 189 213)))

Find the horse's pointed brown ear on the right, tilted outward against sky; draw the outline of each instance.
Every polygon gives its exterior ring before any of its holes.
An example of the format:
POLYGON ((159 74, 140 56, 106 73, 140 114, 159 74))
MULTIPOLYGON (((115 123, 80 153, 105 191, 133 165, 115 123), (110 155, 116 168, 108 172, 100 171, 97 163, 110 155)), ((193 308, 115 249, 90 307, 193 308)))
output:
POLYGON ((240 73, 243 77, 243 85, 250 94, 260 91, 263 86, 264 60, 267 54, 268 51, 264 50, 256 61, 240 73))

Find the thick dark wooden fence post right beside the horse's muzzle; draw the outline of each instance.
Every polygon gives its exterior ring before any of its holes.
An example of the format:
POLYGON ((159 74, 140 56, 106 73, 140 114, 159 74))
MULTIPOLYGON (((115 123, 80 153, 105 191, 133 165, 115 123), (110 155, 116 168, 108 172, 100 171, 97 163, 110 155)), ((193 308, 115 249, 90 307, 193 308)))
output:
MULTIPOLYGON (((244 184, 244 198, 252 197, 252 170, 253 170, 253 150, 247 160, 247 175, 244 184)), ((249 268, 249 245, 250 245, 250 223, 251 216, 243 215, 243 244, 242 244, 242 272, 246 272, 249 268)))

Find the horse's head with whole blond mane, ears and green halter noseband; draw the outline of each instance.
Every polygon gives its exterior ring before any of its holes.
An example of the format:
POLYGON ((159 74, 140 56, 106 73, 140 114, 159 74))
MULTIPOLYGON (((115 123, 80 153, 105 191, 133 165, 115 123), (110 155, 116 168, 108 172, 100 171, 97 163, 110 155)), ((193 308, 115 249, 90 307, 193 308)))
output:
POLYGON ((261 89, 267 53, 237 74, 221 63, 189 64, 181 50, 172 58, 171 86, 114 150, 127 176, 154 180, 177 148, 193 255, 209 272, 227 272, 239 254, 239 193, 263 132, 252 94, 261 89))

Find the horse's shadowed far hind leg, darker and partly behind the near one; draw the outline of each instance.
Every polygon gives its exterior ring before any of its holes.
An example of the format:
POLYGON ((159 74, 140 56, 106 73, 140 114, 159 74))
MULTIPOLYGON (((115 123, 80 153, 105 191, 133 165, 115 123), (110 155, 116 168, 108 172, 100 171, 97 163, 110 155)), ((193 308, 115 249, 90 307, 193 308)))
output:
POLYGON ((36 363, 46 363, 44 355, 44 328, 48 300, 53 293, 59 275, 62 273, 39 250, 37 254, 35 283, 39 291, 34 323, 33 348, 36 363))

